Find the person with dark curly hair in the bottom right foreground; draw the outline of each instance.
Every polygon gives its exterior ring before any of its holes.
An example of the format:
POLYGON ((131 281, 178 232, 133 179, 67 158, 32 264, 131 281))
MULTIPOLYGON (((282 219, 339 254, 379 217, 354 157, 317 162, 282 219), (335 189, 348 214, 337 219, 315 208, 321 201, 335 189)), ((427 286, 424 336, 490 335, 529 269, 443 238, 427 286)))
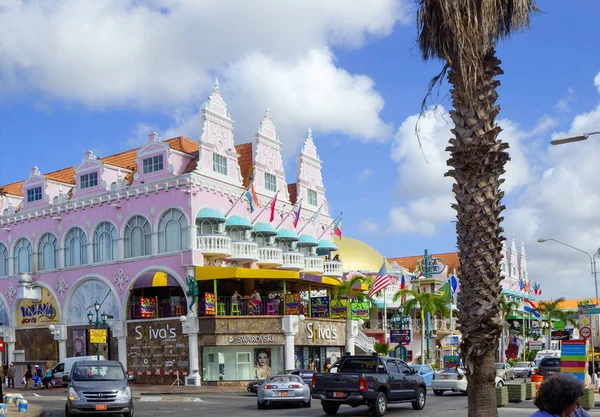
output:
POLYGON ((572 374, 558 373, 550 375, 542 382, 538 392, 538 396, 533 401, 539 409, 531 415, 531 417, 570 417, 570 416, 585 416, 581 414, 573 414, 579 407, 579 399, 583 395, 583 383, 572 374))

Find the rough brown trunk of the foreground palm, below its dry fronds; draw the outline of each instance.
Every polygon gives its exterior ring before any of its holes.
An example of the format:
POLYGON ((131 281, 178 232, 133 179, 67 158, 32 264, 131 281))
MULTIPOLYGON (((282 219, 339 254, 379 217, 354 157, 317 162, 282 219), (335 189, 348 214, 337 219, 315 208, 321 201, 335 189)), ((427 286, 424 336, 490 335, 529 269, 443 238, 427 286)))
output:
POLYGON ((500 82, 500 60, 495 51, 485 58, 477 100, 469 105, 461 74, 448 73, 452 84, 450 112, 455 138, 447 148, 451 156, 446 174, 454 178, 457 211, 456 231, 461 271, 458 323, 463 335, 461 357, 469 382, 469 417, 497 416, 494 388, 496 348, 501 333, 500 300, 503 231, 500 226, 504 165, 508 145, 497 140, 501 129, 495 123, 500 110, 495 104, 500 82))

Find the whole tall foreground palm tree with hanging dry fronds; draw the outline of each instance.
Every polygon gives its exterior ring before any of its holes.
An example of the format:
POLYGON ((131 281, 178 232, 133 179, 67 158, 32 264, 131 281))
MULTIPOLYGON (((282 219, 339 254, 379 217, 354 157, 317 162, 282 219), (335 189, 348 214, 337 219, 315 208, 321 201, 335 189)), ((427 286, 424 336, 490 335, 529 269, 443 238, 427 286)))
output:
MULTIPOLYGON (((495 352, 501 332, 500 260, 504 206, 500 176, 508 145, 497 139, 500 108, 495 80, 502 74, 498 41, 526 27, 534 0, 419 0, 418 44, 423 59, 440 59, 442 71, 429 92, 448 74, 454 122, 450 139, 457 239, 461 271, 458 322, 461 357, 469 381, 469 417, 497 416, 495 352)), ((423 102, 423 107, 425 101, 423 102)))

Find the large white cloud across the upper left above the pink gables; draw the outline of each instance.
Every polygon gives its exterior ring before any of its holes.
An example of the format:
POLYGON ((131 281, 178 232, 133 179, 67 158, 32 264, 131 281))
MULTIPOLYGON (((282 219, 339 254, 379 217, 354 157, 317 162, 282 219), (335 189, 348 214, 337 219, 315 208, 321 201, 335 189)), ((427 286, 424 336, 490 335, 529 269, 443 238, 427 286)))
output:
POLYGON ((387 36, 409 21, 403 0, 4 3, 0 94, 190 114, 221 76, 239 122, 256 126, 270 104, 288 136, 309 124, 366 140, 389 134, 373 81, 339 68, 329 48, 387 36))

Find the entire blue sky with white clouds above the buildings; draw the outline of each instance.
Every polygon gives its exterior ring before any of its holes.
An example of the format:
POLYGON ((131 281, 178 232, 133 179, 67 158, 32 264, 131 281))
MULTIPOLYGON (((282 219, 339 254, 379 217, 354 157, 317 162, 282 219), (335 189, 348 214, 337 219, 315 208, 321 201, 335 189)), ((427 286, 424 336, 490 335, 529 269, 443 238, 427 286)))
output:
MULTIPOLYGON (((197 139, 199 106, 219 77, 236 143, 270 106, 289 182, 312 127, 344 234, 389 257, 455 250, 443 178, 451 103, 443 85, 429 102, 439 107, 421 121, 419 150, 416 115, 441 64, 421 60, 412 2, 205 3, 0 0, 0 183, 26 178, 32 165, 75 165, 87 149, 104 156, 138 146, 151 129, 197 139)), ((499 119, 513 158, 505 235, 524 242, 543 297, 584 297, 593 289, 585 257, 536 239, 600 246, 600 140, 548 146, 553 136, 600 130, 600 4, 539 7, 531 29, 497 51, 499 119)))

